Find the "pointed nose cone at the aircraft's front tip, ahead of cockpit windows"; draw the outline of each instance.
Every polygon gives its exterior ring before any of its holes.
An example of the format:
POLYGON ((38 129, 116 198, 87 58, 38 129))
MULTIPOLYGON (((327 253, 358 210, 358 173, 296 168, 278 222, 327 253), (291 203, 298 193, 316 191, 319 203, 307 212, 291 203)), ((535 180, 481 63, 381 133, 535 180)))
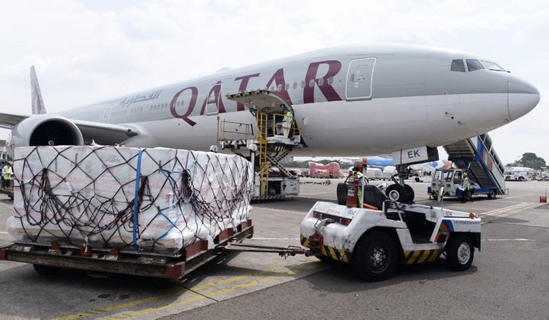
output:
POLYGON ((516 76, 507 81, 507 106, 511 120, 517 120, 529 113, 540 102, 540 91, 537 88, 516 76))

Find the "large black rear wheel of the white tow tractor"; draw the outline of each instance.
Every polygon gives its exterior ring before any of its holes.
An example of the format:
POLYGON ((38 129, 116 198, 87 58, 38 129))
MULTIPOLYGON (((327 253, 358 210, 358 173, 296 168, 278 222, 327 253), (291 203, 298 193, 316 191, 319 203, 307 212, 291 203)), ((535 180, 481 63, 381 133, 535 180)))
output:
POLYGON ((383 231, 372 231, 358 240, 353 250, 351 267, 368 282, 389 278, 397 260, 393 238, 383 231))

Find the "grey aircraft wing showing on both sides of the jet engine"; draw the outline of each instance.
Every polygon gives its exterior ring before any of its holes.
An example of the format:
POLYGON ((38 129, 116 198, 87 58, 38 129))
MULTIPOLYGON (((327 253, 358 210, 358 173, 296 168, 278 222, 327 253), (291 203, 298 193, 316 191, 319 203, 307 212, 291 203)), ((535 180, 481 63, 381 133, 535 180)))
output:
MULTIPOLYGON (((32 115, 0 112, 0 128, 12 129, 13 126, 21 122, 21 120, 29 117, 32 117, 32 115)), ((139 134, 139 130, 133 126, 74 119, 69 120, 78 126, 84 137, 84 141, 86 142, 91 142, 93 139, 101 145, 114 145, 139 134)))

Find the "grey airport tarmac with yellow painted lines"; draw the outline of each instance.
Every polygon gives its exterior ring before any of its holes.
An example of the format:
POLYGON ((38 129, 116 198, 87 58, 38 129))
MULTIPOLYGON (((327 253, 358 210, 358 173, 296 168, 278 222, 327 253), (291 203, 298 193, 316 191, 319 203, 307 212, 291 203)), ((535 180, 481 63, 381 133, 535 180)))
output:
MULTIPOLYGON (((317 200, 335 201, 335 185, 301 186, 292 201, 254 205, 254 244, 299 245, 299 223, 317 200)), ((410 183, 418 203, 428 183, 410 183)), ((549 207, 539 196, 549 183, 508 182, 509 195, 444 206, 483 214, 482 250, 472 268, 454 272, 445 259, 399 267, 388 280, 365 283, 348 266, 316 258, 231 253, 174 285, 158 279, 87 277, 64 270, 44 277, 32 266, 0 262, 0 318, 242 319, 242 318, 460 318, 546 319, 549 311, 549 207)), ((0 245, 13 239, 5 220, 13 214, 0 195, 0 245)))

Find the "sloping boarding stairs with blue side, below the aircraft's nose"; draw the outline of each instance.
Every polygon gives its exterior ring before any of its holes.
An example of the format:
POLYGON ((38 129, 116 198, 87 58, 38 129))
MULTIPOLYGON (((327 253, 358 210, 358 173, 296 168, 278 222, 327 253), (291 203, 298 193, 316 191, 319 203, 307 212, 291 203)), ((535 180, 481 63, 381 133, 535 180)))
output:
POLYGON ((480 187, 497 189, 498 194, 508 193, 505 189, 505 167, 497 156, 488 134, 445 145, 448 160, 470 174, 480 187))

